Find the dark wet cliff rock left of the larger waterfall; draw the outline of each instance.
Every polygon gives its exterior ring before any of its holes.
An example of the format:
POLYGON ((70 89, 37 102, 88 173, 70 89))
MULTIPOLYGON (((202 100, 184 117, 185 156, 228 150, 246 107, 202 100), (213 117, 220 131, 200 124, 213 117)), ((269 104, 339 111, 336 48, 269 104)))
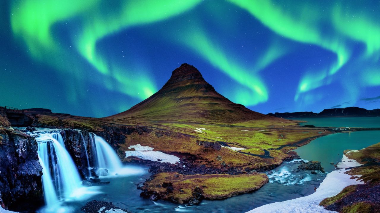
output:
POLYGON ((35 210, 43 204, 37 149, 37 142, 31 137, 0 129, 0 192, 5 208, 35 210))

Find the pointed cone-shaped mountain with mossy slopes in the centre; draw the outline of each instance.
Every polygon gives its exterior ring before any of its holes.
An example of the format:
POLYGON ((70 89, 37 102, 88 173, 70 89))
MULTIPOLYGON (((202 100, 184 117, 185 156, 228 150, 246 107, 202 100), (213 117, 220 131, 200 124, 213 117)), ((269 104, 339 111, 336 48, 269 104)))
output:
POLYGON ((233 103, 207 83, 189 64, 175 69, 166 84, 155 94, 127 111, 108 119, 150 122, 203 122, 231 124, 249 120, 275 120, 241 104, 233 103))

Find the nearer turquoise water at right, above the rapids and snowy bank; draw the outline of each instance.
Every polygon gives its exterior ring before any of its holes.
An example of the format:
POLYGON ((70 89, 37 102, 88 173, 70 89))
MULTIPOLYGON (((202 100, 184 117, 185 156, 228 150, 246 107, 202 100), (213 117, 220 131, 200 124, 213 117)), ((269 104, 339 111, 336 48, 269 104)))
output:
POLYGON ((376 143, 380 143, 380 131, 345 132, 317 138, 294 151, 302 159, 320 161, 325 171, 331 172, 335 167, 330 163, 339 163, 344 150, 363 149, 376 143))

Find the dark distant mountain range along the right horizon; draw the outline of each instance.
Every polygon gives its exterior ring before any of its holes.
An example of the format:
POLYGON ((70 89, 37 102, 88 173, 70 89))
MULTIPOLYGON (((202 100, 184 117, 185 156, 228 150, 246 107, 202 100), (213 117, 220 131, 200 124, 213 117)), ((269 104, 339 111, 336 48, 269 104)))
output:
POLYGON ((380 109, 366 110, 359 107, 325 109, 320 113, 295 112, 295 113, 269 113, 274 117, 378 117, 380 109))

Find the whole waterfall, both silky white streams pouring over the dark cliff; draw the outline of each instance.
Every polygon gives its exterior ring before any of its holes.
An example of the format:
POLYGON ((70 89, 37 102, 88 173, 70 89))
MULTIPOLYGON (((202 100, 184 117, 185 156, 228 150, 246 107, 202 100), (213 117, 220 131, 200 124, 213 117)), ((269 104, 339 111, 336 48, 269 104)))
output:
POLYGON ((136 169, 123 167, 115 150, 100 136, 88 133, 86 143, 80 130, 75 131, 80 134, 79 141, 76 143, 81 147, 74 149, 78 148, 81 153, 84 152, 81 156, 86 159, 81 163, 84 165, 76 165, 62 137, 64 131, 65 129, 38 128, 33 132, 27 132, 35 137, 38 143, 38 157, 43 168, 42 183, 46 207, 41 212, 57 212, 57 209, 64 208, 61 205, 62 202, 84 200, 100 193, 99 186, 82 185, 78 168, 88 168, 87 177, 92 177, 90 169, 93 168, 97 168, 96 172, 101 177, 141 173, 136 169))

